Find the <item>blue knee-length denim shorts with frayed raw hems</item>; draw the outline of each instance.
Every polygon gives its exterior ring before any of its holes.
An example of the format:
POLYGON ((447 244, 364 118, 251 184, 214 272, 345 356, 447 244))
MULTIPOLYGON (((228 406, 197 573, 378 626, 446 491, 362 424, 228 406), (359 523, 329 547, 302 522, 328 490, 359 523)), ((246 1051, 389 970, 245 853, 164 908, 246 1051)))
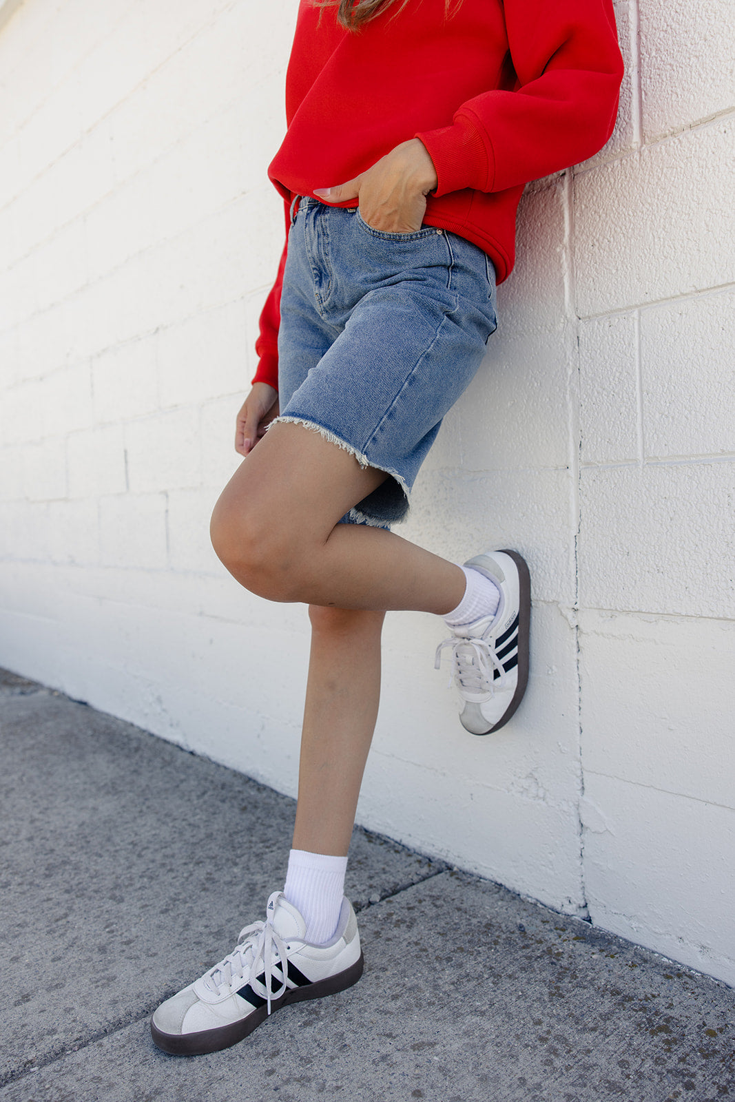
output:
POLYGON ((386 479, 346 522, 388 527, 442 418, 495 331, 495 269, 471 241, 424 226, 372 229, 356 207, 292 207, 281 296, 281 421, 320 432, 386 479))

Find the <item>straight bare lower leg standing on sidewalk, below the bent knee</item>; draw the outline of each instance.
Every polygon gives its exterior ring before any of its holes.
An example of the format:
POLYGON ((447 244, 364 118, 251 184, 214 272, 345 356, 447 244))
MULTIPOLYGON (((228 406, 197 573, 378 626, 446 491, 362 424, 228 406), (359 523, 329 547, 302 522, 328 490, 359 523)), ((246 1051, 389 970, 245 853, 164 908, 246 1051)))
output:
POLYGON ((312 607, 293 846, 346 856, 380 696, 383 613, 312 607))

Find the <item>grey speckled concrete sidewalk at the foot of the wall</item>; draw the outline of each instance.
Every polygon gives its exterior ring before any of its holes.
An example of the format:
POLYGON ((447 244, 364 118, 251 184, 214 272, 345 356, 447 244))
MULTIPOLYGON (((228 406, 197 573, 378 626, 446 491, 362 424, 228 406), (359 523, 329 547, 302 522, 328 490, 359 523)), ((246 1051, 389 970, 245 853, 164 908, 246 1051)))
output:
POLYGON ((735 1098, 735 992, 361 830, 363 980, 165 1056, 150 1014, 261 917, 293 801, 0 681, 0 1102, 735 1098))

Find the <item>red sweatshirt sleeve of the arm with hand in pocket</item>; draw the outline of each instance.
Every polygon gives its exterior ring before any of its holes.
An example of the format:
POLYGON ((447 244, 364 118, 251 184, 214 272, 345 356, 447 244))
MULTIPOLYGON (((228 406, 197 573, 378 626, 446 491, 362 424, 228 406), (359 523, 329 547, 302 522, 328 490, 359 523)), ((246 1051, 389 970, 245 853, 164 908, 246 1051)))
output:
POLYGON ((499 192, 592 156, 615 126, 623 58, 612 0, 505 0, 514 90, 482 93, 418 133, 436 196, 499 192))

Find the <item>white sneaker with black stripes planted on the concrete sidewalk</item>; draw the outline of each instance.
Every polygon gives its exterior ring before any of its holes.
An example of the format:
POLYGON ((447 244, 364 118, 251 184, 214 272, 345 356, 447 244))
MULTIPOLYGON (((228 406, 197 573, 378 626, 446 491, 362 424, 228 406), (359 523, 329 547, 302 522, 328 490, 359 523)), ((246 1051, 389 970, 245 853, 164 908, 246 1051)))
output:
POLYGON ((357 983, 363 953, 357 919, 343 899, 337 932, 326 946, 304 940, 305 922, 282 892, 274 892, 264 922, 240 931, 237 948, 165 1003, 151 1019, 165 1052, 196 1056, 242 1040, 273 1011, 322 998, 357 983))

